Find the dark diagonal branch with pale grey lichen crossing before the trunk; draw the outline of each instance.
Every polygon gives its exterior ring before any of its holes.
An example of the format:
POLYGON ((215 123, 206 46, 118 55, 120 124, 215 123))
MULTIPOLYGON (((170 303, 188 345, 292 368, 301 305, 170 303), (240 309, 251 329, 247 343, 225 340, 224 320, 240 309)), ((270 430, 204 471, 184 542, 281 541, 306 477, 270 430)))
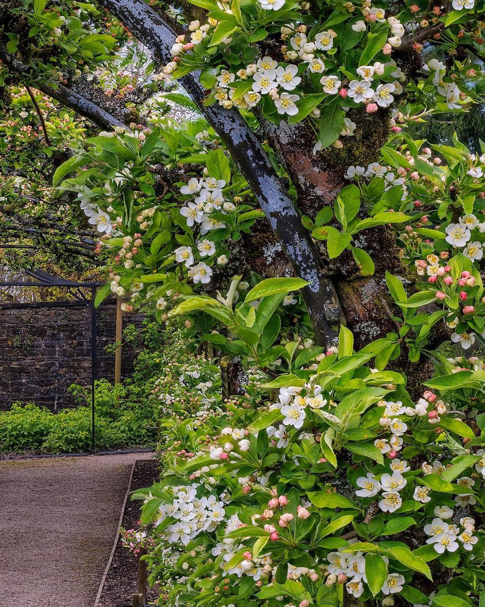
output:
MULTIPOLYGON (((172 61, 175 39, 171 27, 144 0, 102 0, 128 29, 165 63, 172 61)), ((324 276, 319 253, 298 211, 287 195, 258 138, 236 109, 202 105, 205 91, 198 78, 185 76, 181 84, 229 149, 258 198, 276 238, 292 263, 296 276, 310 282, 303 296, 319 341, 335 341, 342 317, 332 282, 324 276)))

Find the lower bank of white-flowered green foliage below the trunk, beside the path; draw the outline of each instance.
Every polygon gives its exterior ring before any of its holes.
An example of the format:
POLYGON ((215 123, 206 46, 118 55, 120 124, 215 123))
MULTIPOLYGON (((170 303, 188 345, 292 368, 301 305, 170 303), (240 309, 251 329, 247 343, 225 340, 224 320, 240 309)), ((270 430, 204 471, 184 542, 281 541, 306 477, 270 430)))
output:
POLYGON ((247 375, 224 400, 199 359, 154 390, 162 478, 136 497, 160 604, 478 605, 484 361, 441 357, 415 402, 403 374, 370 365, 380 345, 355 352, 342 328, 338 351, 284 340, 270 381, 255 363, 269 310, 299 286, 268 279, 235 309, 196 296, 170 313, 219 317, 247 375))

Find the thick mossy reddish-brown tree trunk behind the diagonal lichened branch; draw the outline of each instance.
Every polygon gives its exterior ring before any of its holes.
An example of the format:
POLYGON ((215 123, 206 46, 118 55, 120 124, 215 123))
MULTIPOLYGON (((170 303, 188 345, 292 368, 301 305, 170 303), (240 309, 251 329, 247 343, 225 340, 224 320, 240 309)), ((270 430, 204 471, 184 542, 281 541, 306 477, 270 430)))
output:
MULTIPOLYGON (((312 219, 323 206, 333 206, 338 192, 348 185, 344 179, 347 168, 351 164, 367 166, 377 160, 389 135, 386 112, 369 115, 356 109, 349 117, 358 127, 353 137, 342 137, 344 148, 329 148, 316 154, 313 154, 315 133, 311 127, 304 123, 290 126, 283 121, 276 127, 261 121, 266 137, 298 191, 299 208, 312 219)), ((335 223, 335 227, 339 226, 335 223)), ((375 263, 373 276, 360 276, 347 250, 336 260, 324 261, 326 274, 343 304, 346 325, 354 333, 356 349, 396 330, 389 308, 383 304, 383 300, 389 298, 384 279, 386 270, 396 274, 404 272, 396 238, 390 229, 368 229, 357 239, 375 263)), ((319 253, 325 257, 323 246, 319 247, 319 253)))

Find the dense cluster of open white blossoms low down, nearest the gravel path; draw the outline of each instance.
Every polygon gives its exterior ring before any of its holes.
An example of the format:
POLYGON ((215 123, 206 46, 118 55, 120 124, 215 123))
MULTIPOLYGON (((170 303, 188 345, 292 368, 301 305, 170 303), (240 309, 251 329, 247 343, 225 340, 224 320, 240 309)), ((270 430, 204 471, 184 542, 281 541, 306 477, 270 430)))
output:
POLYGON ((187 546, 190 540, 203 531, 215 531, 219 523, 224 520, 226 510, 224 503, 216 495, 209 497, 196 497, 198 485, 172 487, 175 500, 169 504, 162 504, 159 508, 160 516, 155 525, 158 526, 166 518, 173 518, 176 522, 170 524, 164 535, 171 544, 182 542, 187 546))

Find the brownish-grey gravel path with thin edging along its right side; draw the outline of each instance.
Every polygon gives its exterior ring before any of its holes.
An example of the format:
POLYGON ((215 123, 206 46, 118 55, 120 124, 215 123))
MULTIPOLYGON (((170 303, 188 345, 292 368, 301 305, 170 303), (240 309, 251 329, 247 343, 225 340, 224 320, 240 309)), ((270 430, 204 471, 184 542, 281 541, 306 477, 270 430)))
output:
POLYGON ((92 607, 130 470, 150 453, 0 461, 1 607, 92 607))

